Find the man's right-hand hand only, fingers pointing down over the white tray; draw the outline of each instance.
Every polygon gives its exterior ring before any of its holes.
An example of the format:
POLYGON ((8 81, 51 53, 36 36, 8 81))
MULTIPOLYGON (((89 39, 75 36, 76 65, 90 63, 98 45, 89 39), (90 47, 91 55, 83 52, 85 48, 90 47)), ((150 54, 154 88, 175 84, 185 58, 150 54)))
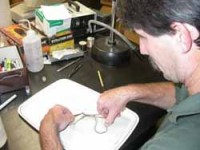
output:
POLYGON ((114 122, 117 116, 120 116, 121 111, 127 104, 124 88, 115 88, 105 91, 98 99, 97 110, 106 118, 106 124, 110 125, 114 122))

